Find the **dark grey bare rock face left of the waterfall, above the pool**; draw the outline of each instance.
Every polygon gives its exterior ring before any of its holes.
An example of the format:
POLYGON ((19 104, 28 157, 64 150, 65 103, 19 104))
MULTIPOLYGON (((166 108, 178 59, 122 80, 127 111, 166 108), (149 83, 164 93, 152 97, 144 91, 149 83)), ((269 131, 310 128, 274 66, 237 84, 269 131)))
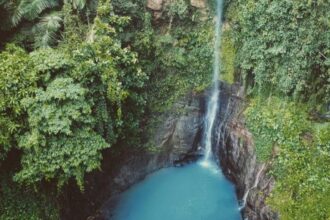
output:
POLYGON ((189 95, 175 104, 176 113, 160 116, 164 120, 151 137, 154 146, 152 152, 132 154, 120 162, 119 169, 109 178, 111 196, 127 189, 147 174, 173 166, 176 161, 195 152, 203 120, 201 98, 199 95, 189 95))

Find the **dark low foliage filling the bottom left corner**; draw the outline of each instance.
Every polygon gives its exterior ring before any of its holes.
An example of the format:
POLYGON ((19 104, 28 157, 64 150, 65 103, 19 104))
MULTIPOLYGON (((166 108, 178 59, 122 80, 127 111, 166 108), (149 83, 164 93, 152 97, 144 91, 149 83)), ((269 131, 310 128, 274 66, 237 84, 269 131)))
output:
POLYGON ((8 176, 0 178, 0 219, 57 220, 59 208, 54 195, 35 192, 12 182, 8 176))

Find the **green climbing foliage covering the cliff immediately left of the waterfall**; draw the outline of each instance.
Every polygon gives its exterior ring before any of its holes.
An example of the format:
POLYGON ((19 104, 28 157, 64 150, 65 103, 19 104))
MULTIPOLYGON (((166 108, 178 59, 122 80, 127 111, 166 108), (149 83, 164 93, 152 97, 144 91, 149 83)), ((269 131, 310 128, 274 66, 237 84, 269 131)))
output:
MULTIPOLYGON (((119 36, 138 53, 141 68, 149 77, 142 90, 147 103, 140 133, 149 139, 161 123, 161 115, 173 109, 175 102, 210 84, 214 25, 211 19, 198 23, 196 9, 186 0, 164 5, 157 22, 143 0, 112 2, 117 13, 132 16, 119 36)), ((152 146, 145 144, 149 151, 153 151, 152 146)))

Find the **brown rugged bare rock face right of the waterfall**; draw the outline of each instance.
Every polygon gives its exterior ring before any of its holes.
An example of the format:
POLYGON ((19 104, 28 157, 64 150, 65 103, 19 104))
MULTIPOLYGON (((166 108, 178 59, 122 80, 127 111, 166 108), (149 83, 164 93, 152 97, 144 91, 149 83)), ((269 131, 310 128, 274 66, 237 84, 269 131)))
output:
POLYGON ((218 123, 221 136, 214 149, 219 163, 224 174, 236 185, 244 219, 278 219, 265 204, 275 181, 267 175, 268 164, 257 162, 252 134, 244 126, 243 92, 239 89, 223 91, 226 92, 231 94, 225 95, 229 97, 226 103, 219 103, 222 106, 218 123))

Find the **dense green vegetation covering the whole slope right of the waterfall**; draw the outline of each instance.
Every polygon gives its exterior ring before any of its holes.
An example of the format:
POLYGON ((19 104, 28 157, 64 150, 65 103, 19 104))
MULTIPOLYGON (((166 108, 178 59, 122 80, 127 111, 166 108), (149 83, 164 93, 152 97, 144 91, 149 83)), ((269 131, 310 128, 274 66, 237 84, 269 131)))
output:
POLYGON ((231 1, 235 69, 280 219, 330 218, 329 1, 231 1))

